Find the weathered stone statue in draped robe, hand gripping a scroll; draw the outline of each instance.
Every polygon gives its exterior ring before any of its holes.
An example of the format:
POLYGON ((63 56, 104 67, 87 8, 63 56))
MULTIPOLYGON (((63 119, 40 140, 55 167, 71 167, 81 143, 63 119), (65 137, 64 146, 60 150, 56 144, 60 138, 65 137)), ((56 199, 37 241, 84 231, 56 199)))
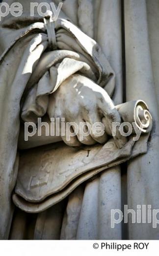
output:
POLYGON ((0 238, 121 239, 110 210, 121 209, 120 164, 148 151, 148 106, 140 97, 122 103, 121 70, 116 74, 117 64, 114 71, 94 40, 92 13, 97 19, 103 1, 66 0, 55 22, 50 12, 30 17, 30 1, 21 2, 22 16, 0 25, 0 238), (50 127, 56 118, 102 122, 105 132, 69 141, 36 133, 25 141, 24 123, 38 118, 50 127), (117 127, 113 135, 114 122, 134 123, 132 134, 117 127))

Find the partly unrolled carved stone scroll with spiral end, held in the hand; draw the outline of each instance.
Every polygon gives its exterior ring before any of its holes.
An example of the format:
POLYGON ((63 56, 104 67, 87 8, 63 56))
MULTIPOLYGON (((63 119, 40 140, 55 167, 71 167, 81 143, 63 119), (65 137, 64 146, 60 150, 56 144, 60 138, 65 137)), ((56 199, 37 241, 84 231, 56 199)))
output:
MULTIPOLYGON (((14 203, 30 213, 41 212, 61 201, 79 184, 109 167, 147 152, 152 117, 142 100, 116 106, 124 122, 141 130, 138 141, 133 134, 122 149, 113 138, 105 145, 69 147, 63 143, 29 150, 20 158, 14 203)), ((134 131, 133 131, 134 132, 134 131)))

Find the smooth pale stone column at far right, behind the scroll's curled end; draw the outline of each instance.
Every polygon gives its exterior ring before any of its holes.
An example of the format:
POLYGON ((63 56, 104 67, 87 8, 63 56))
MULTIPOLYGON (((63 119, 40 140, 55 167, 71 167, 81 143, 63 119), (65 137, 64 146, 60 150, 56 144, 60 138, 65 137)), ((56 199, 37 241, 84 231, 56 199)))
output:
MULTIPOLYGON (((125 0, 125 52, 127 101, 145 100, 154 118, 149 150, 128 163, 128 209, 137 205, 159 209, 159 113, 153 81, 147 9, 145 0, 125 0)), ((142 218, 141 218, 142 221, 142 218)), ((147 219, 146 219, 147 222, 147 219)), ((129 239, 157 239, 159 227, 152 223, 132 224, 129 214, 129 239)))

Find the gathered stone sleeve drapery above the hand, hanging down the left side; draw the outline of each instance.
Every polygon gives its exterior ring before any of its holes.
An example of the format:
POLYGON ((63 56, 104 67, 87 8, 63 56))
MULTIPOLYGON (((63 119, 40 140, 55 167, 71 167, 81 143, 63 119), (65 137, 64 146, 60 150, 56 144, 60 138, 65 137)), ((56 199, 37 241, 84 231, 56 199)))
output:
MULTIPOLYGON (((24 111, 22 110, 22 117, 25 120, 26 116, 28 118, 28 112, 30 114, 29 107, 30 105, 33 106, 33 101, 35 102, 34 109, 36 109, 34 112, 37 116, 45 114, 47 95, 53 93, 62 81, 67 78, 66 70, 70 70, 69 75, 80 70, 84 75, 97 79, 97 83, 104 87, 110 95, 114 90, 115 75, 100 46, 81 32, 78 27, 65 19, 57 20, 55 30, 57 44, 59 44, 58 48, 61 50, 57 50, 57 54, 51 52, 51 58, 49 58, 52 63, 58 63, 59 61, 61 63, 56 66, 48 63, 47 67, 45 65, 45 73, 37 77, 36 70, 39 68, 40 63, 45 64, 45 61, 40 61, 41 58, 45 59, 43 53, 48 48, 48 36, 44 23, 36 22, 18 30, 9 28, 9 25, 5 24, 5 22, 0 27, 0 34, 4 41, 9 32, 13 35, 13 39, 6 45, 0 57, 0 220, 4 223, 4 225, 0 226, 0 238, 8 237, 9 220, 12 219, 13 207, 10 195, 15 186, 17 175, 17 168, 14 168, 14 163, 16 161, 20 128, 20 101, 24 92, 25 94, 29 90, 31 90, 31 93, 33 92, 32 94, 30 93, 32 97, 26 96, 24 104, 26 108, 23 109, 24 111), (75 44, 75 48, 73 44, 75 44), (79 47, 79 53, 77 53, 77 46, 79 47), (63 50, 65 47, 66 49, 69 48, 69 50, 63 50), (70 51, 70 48, 72 51, 70 51), (65 70, 63 74, 61 69, 65 70), (94 74, 96 69, 97 78, 96 74, 94 74), (50 74, 56 74, 52 88, 50 88, 51 85, 49 84, 49 80, 52 79, 50 74), (48 85, 46 90, 44 90, 41 82, 45 82, 48 85), (37 104, 39 104, 38 107, 37 104)), ((1 44, 4 47, 3 40, 1 44)), ((40 67, 43 68, 43 65, 40 67)))

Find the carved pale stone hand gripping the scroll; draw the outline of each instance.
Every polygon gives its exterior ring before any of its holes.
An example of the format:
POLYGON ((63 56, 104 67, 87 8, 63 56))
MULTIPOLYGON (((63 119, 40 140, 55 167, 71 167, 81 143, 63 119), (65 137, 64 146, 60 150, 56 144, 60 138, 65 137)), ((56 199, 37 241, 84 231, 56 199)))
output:
MULTIPOLYGON (((105 143, 107 134, 112 134, 112 122, 121 122, 120 115, 106 91, 79 74, 69 77, 50 95, 48 114, 50 118, 65 118, 65 122, 75 122, 78 125, 80 122, 88 122, 91 126, 105 118, 105 133, 102 136, 96 136, 91 132, 80 140, 78 133, 77 136, 71 137, 70 141, 66 140, 66 136, 62 136, 63 141, 69 146, 78 146, 80 143, 105 143)), ((119 148, 125 144, 118 130, 114 139, 119 148)))

